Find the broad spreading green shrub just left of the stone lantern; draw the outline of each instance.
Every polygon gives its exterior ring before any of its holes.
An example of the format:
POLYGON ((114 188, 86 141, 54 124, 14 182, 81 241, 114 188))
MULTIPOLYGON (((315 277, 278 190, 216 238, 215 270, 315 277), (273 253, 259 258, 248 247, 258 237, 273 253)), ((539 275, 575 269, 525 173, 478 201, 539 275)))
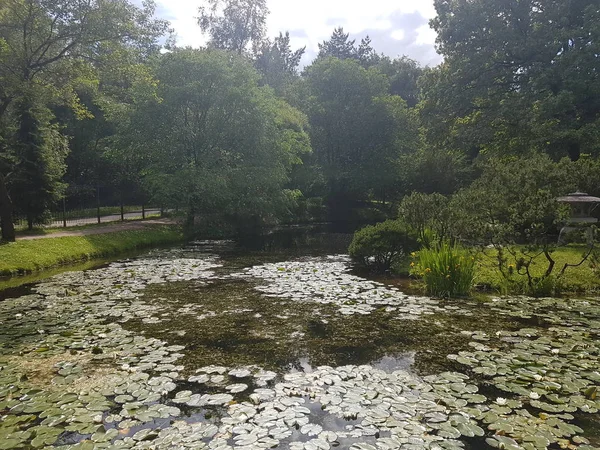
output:
POLYGON ((558 236, 567 210, 556 197, 576 190, 577 180, 548 156, 492 158, 481 176, 452 199, 454 234, 474 244, 529 242, 544 245, 558 236))

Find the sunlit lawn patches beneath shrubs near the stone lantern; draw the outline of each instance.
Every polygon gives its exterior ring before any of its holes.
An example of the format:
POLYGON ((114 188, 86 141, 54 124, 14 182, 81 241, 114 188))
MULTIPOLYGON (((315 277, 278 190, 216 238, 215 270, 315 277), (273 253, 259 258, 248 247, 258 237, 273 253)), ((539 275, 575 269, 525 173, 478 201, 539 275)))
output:
MULTIPOLYGON (((556 261, 556 266, 552 273, 558 275, 565 263, 579 263, 585 251, 584 246, 574 245, 558 248, 552 253, 552 258, 556 261)), ((496 256, 497 253, 495 250, 491 249, 479 254, 475 282, 481 287, 501 291, 506 282, 498 270, 496 256)), ((532 274, 541 276, 546 268, 547 260, 544 255, 540 255, 532 264, 532 274)), ((517 275, 514 275, 513 278, 526 279, 526 277, 517 275)), ((579 267, 569 267, 560 279, 560 286, 563 292, 585 293, 600 291, 600 276, 594 273, 588 260, 579 267)))

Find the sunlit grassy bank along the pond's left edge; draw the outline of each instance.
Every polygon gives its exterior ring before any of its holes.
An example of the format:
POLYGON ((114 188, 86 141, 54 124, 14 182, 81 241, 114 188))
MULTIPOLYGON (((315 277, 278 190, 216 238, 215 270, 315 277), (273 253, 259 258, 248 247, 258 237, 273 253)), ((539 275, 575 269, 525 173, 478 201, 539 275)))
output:
POLYGON ((90 236, 34 239, 0 245, 0 275, 19 275, 183 240, 177 226, 153 226, 90 236))

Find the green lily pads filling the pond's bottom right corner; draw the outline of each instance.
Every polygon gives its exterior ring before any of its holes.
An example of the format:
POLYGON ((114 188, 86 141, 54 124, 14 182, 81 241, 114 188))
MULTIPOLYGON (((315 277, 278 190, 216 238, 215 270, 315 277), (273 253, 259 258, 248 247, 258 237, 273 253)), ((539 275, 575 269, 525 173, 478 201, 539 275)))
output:
POLYGON ((591 449, 574 414, 600 409, 600 308, 595 301, 496 299, 494 310, 542 320, 548 328, 472 333, 472 350, 448 358, 469 366, 504 392, 493 414, 480 417, 497 435, 492 446, 591 449), (497 441, 497 442, 494 442, 497 441))

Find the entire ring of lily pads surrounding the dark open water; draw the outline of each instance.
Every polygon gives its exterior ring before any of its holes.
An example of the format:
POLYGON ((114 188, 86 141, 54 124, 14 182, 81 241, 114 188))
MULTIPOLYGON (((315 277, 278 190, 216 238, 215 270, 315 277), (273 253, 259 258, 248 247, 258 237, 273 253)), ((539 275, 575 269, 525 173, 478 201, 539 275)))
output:
POLYGON ((464 448, 465 438, 506 449, 593 448, 572 423, 572 413, 596 413, 600 404, 594 343, 600 322, 593 303, 574 308, 588 311, 586 317, 570 306, 561 315, 547 304, 519 313, 522 299, 494 303, 506 314, 547 316, 556 324, 492 337, 471 333, 472 350, 452 356, 506 391, 495 401, 456 372, 421 378, 370 365, 287 373, 218 361, 184 367, 179 360, 193 350, 123 324, 160 324, 171 314, 209 318, 211 312, 148 303, 143 294, 151 284, 193 281, 202 287, 252 278, 266 282, 257 287, 264 301, 333 304, 343 315, 380 308, 402 320, 442 311, 471 314, 353 276, 343 256, 223 275, 217 273, 223 263, 205 250, 162 250, 64 273, 1 302, 0 449, 452 450, 464 448))

